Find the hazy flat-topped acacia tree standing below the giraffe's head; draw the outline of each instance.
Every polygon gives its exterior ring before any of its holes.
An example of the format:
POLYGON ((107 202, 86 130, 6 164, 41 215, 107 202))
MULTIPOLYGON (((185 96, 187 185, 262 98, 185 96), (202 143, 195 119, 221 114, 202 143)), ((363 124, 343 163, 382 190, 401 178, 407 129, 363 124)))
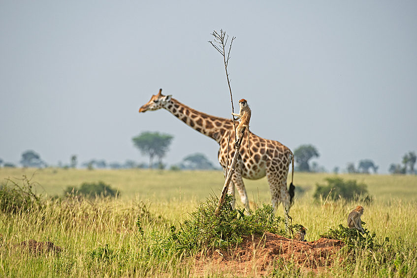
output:
POLYGON ((169 145, 174 137, 169 134, 145 131, 132 138, 133 145, 142 154, 149 155, 149 168, 152 168, 154 157, 157 156, 159 164, 162 164, 162 157, 165 156, 169 145))

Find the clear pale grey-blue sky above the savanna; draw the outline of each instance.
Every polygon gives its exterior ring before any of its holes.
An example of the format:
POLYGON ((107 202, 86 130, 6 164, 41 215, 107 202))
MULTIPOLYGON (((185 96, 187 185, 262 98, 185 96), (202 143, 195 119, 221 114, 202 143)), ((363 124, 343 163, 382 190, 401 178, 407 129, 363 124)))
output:
POLYGON ((174 136, 168 165, 203 153, 218 166, 214 140, 138 109, 162 88, 230 118, 208 43, 221 29, 255 134, 314 145, 328 171, 372 159, 387 173, 417 151, 417 1, 14 0, 0 2, 0 158, 148 162, 131 139, 159 131, 174 136))

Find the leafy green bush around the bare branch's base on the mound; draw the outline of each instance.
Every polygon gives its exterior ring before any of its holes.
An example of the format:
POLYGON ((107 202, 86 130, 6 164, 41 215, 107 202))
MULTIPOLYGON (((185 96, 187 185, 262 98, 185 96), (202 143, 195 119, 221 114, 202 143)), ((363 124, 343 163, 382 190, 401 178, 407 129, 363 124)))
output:
MULTIPOLYGON (((219 216, 215 216, 218 200, 211 197, 206 203, 200 204, 187 220, 180 224, 179 229, 171 226, 171 235, 165 242, 167 247, 177 250, 193 251, 200 248, 234 247, 243 241, 244 236, 271 232, 287 236, 285 219, 275 217, 271 205, 263 205, 250 215, 244 210, 233 210, 230 206, 232 196, 226 196, 219 216)), ((290 234, 300 225, 289 225, 290 234)))

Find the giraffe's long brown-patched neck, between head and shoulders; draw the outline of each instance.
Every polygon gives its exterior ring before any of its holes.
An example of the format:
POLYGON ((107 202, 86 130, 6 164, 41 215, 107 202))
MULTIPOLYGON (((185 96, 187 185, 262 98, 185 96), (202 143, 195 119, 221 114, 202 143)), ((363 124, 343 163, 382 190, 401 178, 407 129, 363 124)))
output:
POLYGON ((170 103, 165 107, 172 115, 191 126, 198 132, 213 138, 220 144, 226 131, 233 129, 231 119, 214 117, 182 104, 175 98, 171 98, 170 103))

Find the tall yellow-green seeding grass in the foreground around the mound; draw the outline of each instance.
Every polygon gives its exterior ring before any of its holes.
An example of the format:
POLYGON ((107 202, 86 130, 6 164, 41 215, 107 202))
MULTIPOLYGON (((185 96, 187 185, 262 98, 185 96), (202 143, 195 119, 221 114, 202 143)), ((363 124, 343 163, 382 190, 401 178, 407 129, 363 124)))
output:
MULTIPOLYGON (((371 186, 368 189, 373 194, 371 186)), ((192 191, 183 193, 192 195, 192 191)), ((308 194, 297 198, 290 216, 293 223, 306 227, 307 241, 318 240, 339 224, 346 226, 348 213, 356 205, 363 205, 363 227, 371 235, 375 233, 375 242, 381 247, 340 252, 340 260, 318 273, 287 263, 270 276, 416 277, 416 202, 385 197, 380 201, 378 195, 374 196, 366 205, 343 200, 316 202, 308 194), (385 242, 386 237, 389 242, 385 242)), ((199 200, 200 197, 183 199, 181 195, 169 199, 140 195, 123 199, 42 198, 41 206, 31 205, 15 213, 1 212, 0 277, 192 277, 192 258, 185 256, 184 249, 166 243, 173 234, 179 234, 190 214, 197 212, 199 200), (177 229, 172 230, 171 226, 177 229), (55 255, 27 253, 18 245, 29 239, 51 241, 63 251, 55 255)), ((237 210, 243 211, 239 207, 237 210)), ((239 211, 232 216, 232 222, 240 223, 239 211)), ((235 233, 235 238, 239 233, 235 233)), ((219 234, 220 239, 229 241, 220 232, 213 242, 217 242, 219 234)), ((230 238, 233 237, 232 234, 230 238)), ((210 277, 224 276, 219 272, 210 277)))

